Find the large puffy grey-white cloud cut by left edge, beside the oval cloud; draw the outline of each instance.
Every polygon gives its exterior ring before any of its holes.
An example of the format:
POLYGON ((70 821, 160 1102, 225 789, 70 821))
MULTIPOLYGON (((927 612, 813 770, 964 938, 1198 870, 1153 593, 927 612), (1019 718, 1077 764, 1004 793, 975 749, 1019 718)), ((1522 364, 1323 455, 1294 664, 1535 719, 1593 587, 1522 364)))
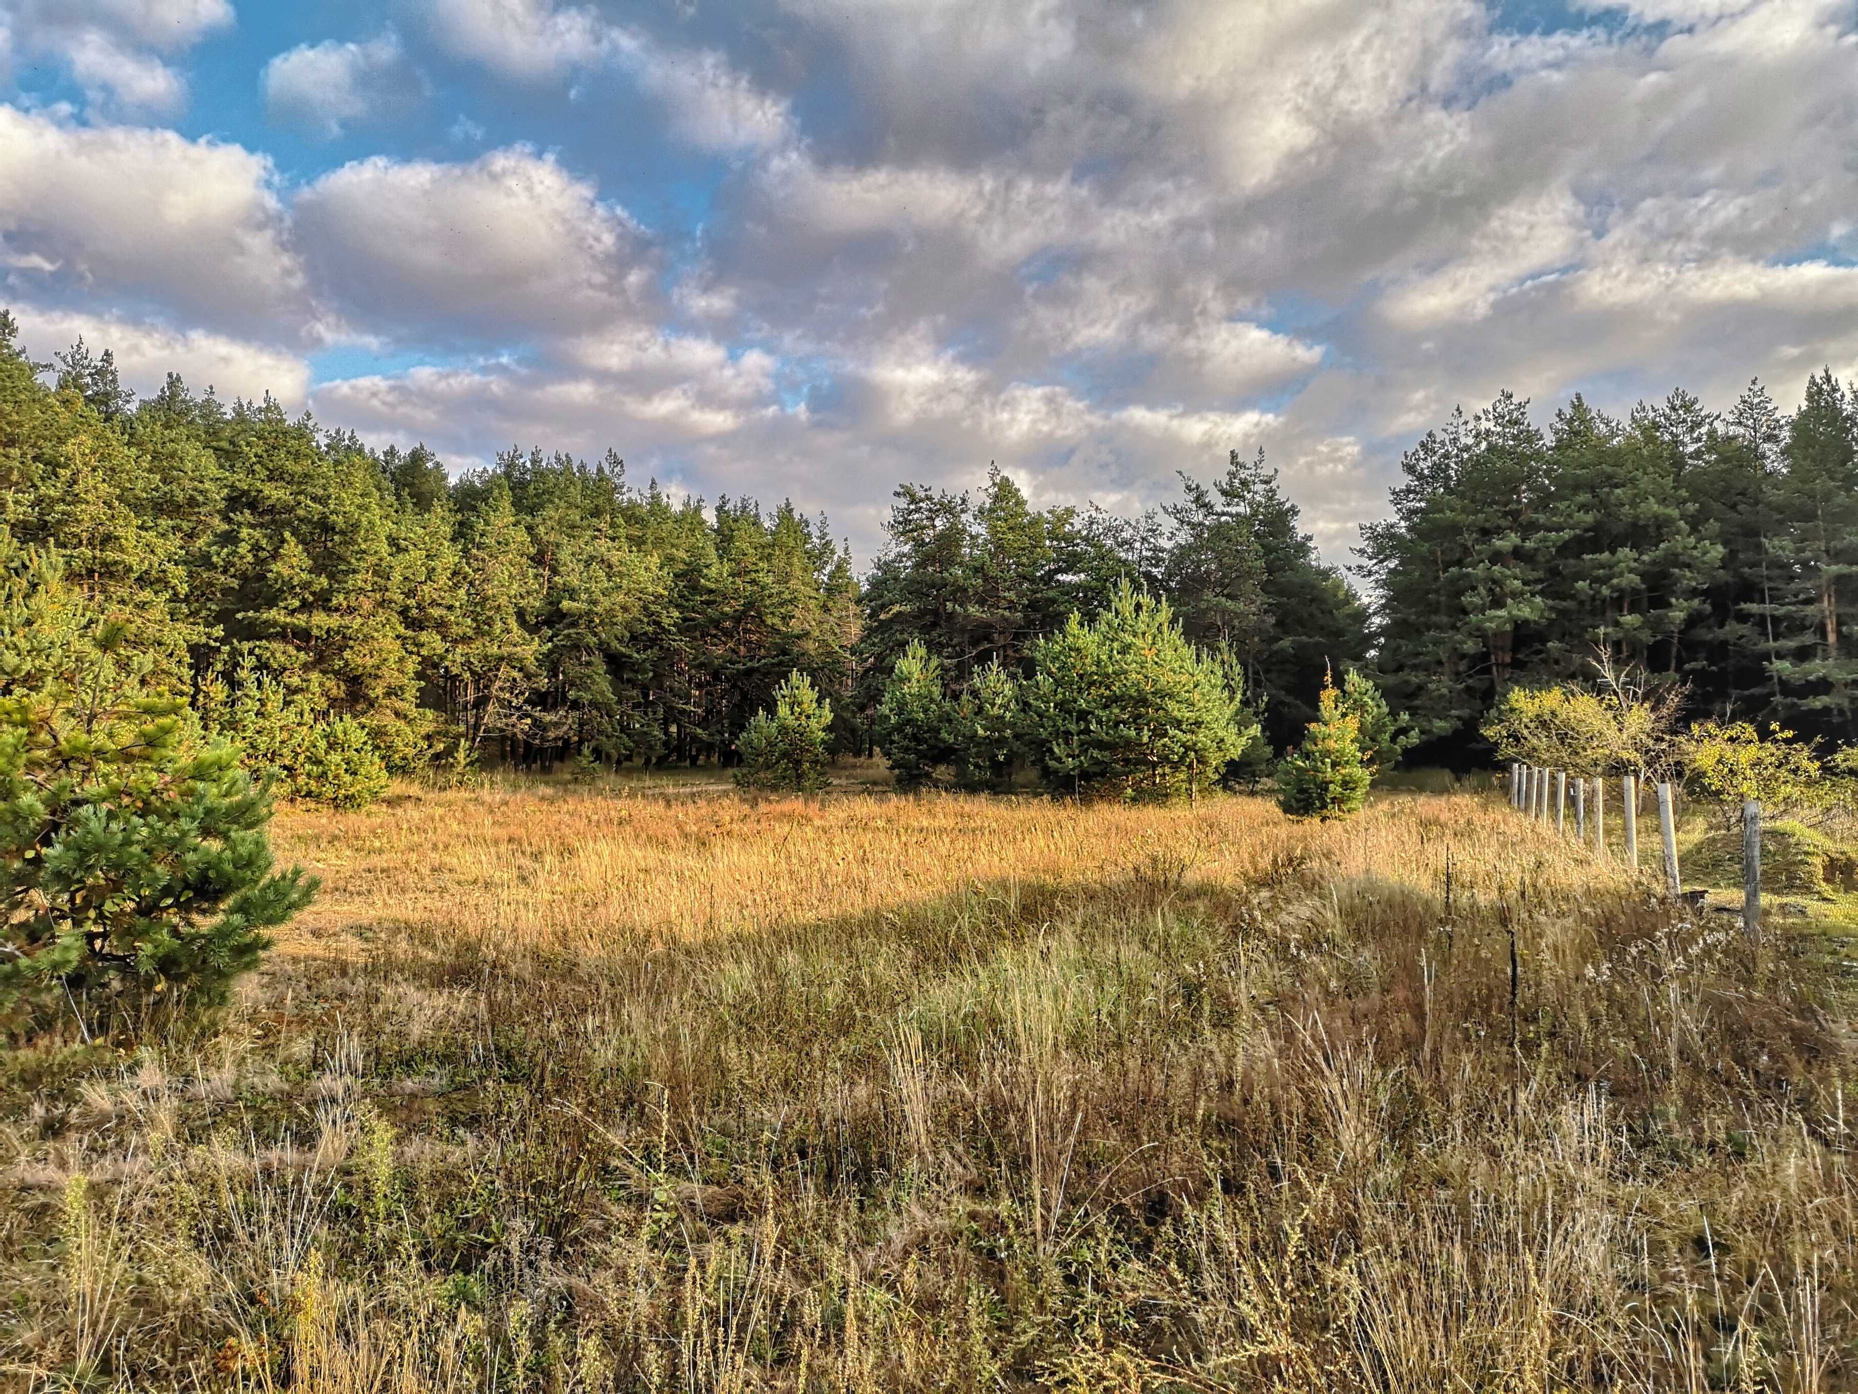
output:
POLYGON ((0 251, 39 299, 147 299, 234 331, 310 320, 271 162, 171 130, 0 106, 0 251))

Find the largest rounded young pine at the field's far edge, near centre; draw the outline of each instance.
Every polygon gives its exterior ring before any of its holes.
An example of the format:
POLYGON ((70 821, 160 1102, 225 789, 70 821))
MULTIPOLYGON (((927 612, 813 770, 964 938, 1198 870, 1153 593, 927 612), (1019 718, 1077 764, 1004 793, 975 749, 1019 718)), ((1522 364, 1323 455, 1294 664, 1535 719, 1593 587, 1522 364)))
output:
POLYGON ((1046 788, 1171 797, 1208 788, 1250 738, 1215 658, 1172 608, 1124 584, 1094 621, 1072 615, 1031 651, 1026 749, 1046 788))

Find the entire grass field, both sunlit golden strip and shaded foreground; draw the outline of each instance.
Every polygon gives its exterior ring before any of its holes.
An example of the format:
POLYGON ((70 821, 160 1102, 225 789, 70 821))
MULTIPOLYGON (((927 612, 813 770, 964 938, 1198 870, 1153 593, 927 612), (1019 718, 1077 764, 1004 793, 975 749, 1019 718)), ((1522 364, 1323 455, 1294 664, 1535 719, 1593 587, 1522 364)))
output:
POLYGON ((19 1388, 1836 1390, 1843 963, 1472 794, 286 812, 230 1015, 6 1061, 19 1388))

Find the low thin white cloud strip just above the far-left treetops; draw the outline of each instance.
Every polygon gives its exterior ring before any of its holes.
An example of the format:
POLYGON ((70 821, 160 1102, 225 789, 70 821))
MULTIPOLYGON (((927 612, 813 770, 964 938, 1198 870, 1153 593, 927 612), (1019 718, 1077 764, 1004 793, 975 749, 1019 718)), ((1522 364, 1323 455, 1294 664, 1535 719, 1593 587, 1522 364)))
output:
POLYGON ((284 407, 295 409, 308 398, 310 364, 262 344, 204 329, 178 331, 119 316, 30 305, 15 305, 13 318, 19 322, 20 344, 33 359, 50 362, 54 353, 82 338, 97 353, 110 349, 123 383, 141 396, 154 394, 167 374, 178 372, 195 392, 212 387, 225 401, 258 400, 269 392, 284 407))

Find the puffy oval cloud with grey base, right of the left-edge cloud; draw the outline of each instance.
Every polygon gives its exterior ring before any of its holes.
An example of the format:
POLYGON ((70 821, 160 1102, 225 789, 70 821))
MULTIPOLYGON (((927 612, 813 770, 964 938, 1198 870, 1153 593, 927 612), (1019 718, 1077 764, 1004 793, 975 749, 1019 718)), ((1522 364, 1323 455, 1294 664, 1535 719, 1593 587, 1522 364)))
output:
POLYGON ((650 260, 593 182, 528 147, 360 160, 295 201, 297 245, 357 325, 520 342, 635 318, 650 260))

